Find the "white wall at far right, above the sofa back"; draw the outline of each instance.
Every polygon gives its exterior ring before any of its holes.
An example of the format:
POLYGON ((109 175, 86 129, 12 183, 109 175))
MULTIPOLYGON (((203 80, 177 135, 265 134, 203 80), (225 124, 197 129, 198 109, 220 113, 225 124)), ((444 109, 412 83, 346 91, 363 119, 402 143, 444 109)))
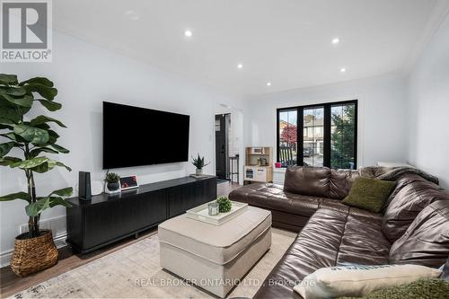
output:
POLYGON ((449 16, 409 76, 409 162, 449 189, 449 16))

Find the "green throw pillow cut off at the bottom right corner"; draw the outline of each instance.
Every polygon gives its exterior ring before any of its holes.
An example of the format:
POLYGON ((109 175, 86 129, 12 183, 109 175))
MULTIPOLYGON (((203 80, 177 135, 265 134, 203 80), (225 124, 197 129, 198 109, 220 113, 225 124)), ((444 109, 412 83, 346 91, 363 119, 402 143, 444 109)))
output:
MULTIPOLYGON (((356 297, 339 297, 339 299, 355 299, 356 297)), ((370 295, 357 297, 364 299, 405 299, 426 298, 443 299, 449 298, 449 282, 443 279, 420 279, 415 282, 383 288, 374 291, 370 295)))

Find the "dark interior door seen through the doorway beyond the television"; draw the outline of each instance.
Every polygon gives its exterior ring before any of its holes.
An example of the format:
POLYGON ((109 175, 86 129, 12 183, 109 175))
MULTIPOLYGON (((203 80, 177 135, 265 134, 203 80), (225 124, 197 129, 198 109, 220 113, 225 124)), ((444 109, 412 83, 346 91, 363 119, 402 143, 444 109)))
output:
POLYGON ((216 177, 226 180, 226 116, 216 115, 216 177))

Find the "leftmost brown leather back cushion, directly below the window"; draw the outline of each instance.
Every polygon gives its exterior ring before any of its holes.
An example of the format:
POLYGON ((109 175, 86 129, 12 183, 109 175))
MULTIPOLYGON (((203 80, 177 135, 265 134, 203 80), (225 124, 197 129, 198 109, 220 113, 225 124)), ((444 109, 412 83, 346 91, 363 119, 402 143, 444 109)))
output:
POLYGON ((292 166, 286 169, 286 192, 327 198, 330 169, 327 167, 292 166))

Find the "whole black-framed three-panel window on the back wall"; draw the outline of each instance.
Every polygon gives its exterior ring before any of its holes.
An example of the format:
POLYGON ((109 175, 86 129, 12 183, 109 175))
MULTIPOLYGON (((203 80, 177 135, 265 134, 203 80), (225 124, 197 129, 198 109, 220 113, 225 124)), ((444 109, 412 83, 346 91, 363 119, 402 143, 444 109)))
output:
POLYGON ((277 161, 357 168, 357 100, 277 110, 277 161))

